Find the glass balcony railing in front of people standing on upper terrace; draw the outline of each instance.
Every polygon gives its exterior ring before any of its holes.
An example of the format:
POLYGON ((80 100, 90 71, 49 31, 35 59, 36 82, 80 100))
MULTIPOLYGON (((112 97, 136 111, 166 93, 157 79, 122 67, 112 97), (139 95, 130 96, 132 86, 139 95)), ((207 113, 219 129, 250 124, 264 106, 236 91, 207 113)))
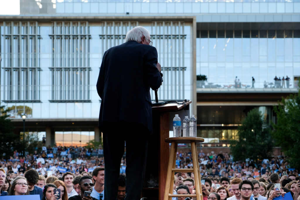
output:
POLYGON ((297 90, 298 80, 287 81, 270 81, 270 82, 258 82, 255 81, 243 81, 235 83, 234 80, 230 81, 197 81, 197 90, 205 89, 266 89, 266 90, 297 90))

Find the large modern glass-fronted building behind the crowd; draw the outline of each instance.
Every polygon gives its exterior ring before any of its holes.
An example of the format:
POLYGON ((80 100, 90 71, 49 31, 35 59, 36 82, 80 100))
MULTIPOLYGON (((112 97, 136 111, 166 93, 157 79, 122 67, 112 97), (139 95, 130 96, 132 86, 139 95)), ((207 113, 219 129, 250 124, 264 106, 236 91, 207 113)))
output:
POLYGON ((102 55, 137 25, 158 50, 159 99, 192 100, 198 136, 208 141, 236 138, 253 107, 274 121, 271 107, 297 92, 298 0, 12 0, 0 9, 1 105, 16 124, 25 114, 26 131, 51 144, 56 134, 65 135, 60 144, 73 134, 78 145, 98 138, 102 55), (197 83, 200 74, 207 81, 197 83))

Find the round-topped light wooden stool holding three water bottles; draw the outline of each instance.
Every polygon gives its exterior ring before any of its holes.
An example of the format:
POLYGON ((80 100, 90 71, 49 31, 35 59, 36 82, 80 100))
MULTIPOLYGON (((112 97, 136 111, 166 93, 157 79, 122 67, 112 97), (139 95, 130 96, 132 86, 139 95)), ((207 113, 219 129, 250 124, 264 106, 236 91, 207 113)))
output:
POLYGON ((201 188, 201 175, 199 170, 198 153, 196 143, 204 142, 199 137, 172 137, 165 139, 165 142, 171 143, 169 156, 167 180, 164 200, 172 200, 172 197, 196 197, 197 200, 203 200, 201 188), (176 169, 176 154, 178 143, 190 143, 192 148, 193 169, 176 169), (173 183, 175 172, 194 172, 196 194, 173 194, 173 183))

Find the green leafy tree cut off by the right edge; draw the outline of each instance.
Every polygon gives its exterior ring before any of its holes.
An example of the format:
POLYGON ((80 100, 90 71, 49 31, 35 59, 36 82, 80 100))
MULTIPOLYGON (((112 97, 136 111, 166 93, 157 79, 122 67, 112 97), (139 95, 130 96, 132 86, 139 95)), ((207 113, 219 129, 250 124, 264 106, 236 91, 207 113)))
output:
POLYGON ((288 157, 292 168, 300 169, 299 143, 300 143, 300 90, 298 95, 282 98, 278 106, 274 106, 277 114, 277 123, 273 124, 273 138, 275 144, 288 157))

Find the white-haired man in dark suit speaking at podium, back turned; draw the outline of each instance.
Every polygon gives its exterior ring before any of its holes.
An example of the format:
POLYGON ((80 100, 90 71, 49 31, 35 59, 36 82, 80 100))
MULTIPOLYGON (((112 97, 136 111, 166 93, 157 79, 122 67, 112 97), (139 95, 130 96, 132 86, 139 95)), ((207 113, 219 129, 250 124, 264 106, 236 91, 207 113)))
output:
POLYGON ((99 129, 103 132, 105 200, 116 199, 121 158, 126 142, 126 199, 141 197, 148 136, 152 133, 150 88, 162 78, 158 53, 149 31, 141 26, 128 31, 125 43, 108 49, 97 82, 101 97, 99 129))

